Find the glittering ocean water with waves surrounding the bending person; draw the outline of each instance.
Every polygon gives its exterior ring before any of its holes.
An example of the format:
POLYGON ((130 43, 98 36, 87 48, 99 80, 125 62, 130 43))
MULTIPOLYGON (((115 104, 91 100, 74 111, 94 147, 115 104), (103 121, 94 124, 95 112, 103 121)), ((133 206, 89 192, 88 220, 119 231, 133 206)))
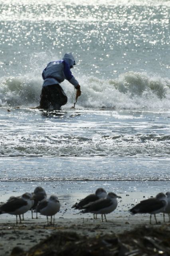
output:
POLYGON ((169 190, 169 17, 169 0, 0 1, 1 201, 36 186, 70 207, 99 186, 125 201, 169 190), (32 109, 65 52, 75 109, 68 81, 61 111, 32 109))

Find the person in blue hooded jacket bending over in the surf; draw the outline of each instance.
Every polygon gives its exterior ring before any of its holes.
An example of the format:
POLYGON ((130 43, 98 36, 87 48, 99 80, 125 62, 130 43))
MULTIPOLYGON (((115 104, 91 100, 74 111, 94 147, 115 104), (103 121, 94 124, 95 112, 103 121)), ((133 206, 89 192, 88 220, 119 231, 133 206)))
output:
POLYGON ((59 85, 65 79, 68 80, 75 89, 76 100, 81 95, 80 85, 74 76, 71 74, 71 68, 75 65, 75 60, 71 52, 64 55, 63 59, 52 61, 47 64, 47 67, 42 72, 44 80, 42 92, 40 96, 39 108, 49 110, 59 110, 62 105, 67 103, 67 96, 59 85))

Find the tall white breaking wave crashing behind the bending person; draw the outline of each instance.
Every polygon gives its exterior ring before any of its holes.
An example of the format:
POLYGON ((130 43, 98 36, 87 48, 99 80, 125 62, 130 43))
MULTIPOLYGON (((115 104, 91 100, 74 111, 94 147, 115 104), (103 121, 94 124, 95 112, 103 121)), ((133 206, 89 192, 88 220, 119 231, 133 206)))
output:
MULTIPOLYGON (((35 72, 36 73, 36 72, 35 72)), ((39 74, 39 73, 38 73, 39 74)), ((146 72, 126 72, 117 79, 99 79, 95 76, 77 77, 81 97, 77 107, 117 109, 169 109, 170 79, 146 72)), ((68 96, 66 107, 75 100, 73 86, 62 84, 68 96)), ((37 74, 4 77, 0 83, 0 106, 37 106, 40 101, 42 78, 37 74)))

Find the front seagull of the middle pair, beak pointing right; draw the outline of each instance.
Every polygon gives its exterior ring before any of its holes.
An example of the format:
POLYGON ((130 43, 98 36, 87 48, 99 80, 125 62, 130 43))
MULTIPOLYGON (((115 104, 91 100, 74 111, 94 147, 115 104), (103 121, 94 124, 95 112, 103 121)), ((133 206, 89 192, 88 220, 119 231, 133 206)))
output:
POLYGON ((107 194, 106 198, 101 198, 95 202, 91 202, 85 206, 81 212, 91 212, 93 214, 101 214, 102 222, 103 222, 103 214, 105 216, 105 220, 107 221, 106 214, 113 212, 117 208, 117 198, 121 198, 121 196, 117 196, 115 193, 110 192, 107 194))

